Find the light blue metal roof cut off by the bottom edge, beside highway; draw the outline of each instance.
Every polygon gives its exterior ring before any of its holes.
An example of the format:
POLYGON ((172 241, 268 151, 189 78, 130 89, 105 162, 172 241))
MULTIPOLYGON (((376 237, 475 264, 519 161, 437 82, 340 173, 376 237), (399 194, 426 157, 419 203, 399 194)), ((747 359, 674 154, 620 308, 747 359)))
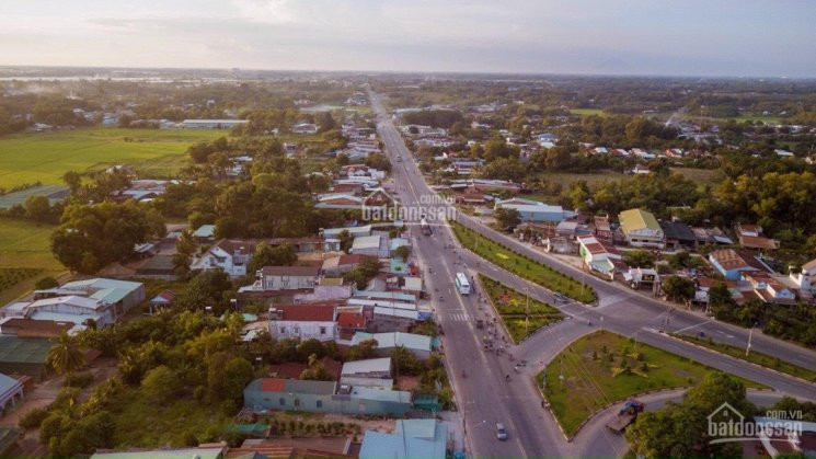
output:
POLYGON ((366 431, 359 459, 445 459, 448 427, 437 420, 396 420, 393 433, 366 431))

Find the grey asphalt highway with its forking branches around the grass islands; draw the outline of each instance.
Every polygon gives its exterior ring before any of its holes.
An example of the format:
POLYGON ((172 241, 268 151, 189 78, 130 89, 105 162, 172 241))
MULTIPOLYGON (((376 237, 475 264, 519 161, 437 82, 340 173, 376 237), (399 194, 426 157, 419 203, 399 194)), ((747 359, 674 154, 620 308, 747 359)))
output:
MULTIPOLYGON (((375 93, 369 95, 377 113, 378 133, 384 144, 386 154, 393 165, 394 188, 402 205, 427 209, 428 213, 433 209, 450 213, 452 206, 441 202, 425 183, 400 133, 382 106, 380 96, 375 93)), ((433 236, 423 236, 418 226, 411 226, 414 254, 424 269, 437 322, 445 331, 443 343, 446 360, 457 394, 457 405, 466 420, 464 427, 471 456, 623 455, 627 448, 621 443, 621 437, 605 429, 602 424, 599 427, 598 423, 589 423, 573 441, 566 441, 555 420, 541 406, 541 399, 532 380, 535 372, 572 341, 599 328, 633 336, 640 342, 765 383, 781 393, 816 400, 814 385, 692 346, 659 332, 663 328, 669 331, 703 332, 721 341, 745 346, 748 341, 746 330, 667 307, 623 286, 585 275, 579 269, 547 256, 535 248, 494 231, 460 213, 451 215, 460 223, 492 240, 501 241, 542 264, 573 278, 585 278, 587 286, 593 287, 599 298, 597 306, 577 302, 559 305, 567 317, 566 320, 536 333, 519 346, 507 346, 509 353, 530 363, 524 372, 516 374, 513 370, 514 363, 507 353, 498 356, 483 349, 482 338, 485 330, 476 330, 475 320, 482 318, 492 322, 492 309, 480 299, 480 292, 470 296, 459 295, 453 285, 455 275, 457 272, 464 272, 469 276, 483 273, 508 287, 529 291, 532 298, 555 305, 552 292, 459 248, 447 225, 435 226, 433 236), (509 381, 506 381, 506 375, 510 375, 509 381), (495 438, 497 422, 507 426, 507 441, 498 441, 495 438)), ((755 351, 779 355, 780 358, 816 369, 816 354, 790 343, 754 333, 751 346, 755 351)))

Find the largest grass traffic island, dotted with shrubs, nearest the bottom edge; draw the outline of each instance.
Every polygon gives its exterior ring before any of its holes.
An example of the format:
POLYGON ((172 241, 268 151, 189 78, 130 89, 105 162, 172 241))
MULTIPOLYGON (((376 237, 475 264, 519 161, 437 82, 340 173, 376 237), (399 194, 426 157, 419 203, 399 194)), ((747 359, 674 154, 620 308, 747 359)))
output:
MULTIPOLYGON (((584 421, 609 403, 639 393, 690 387, 715 369, 685 357, 598 331, 566 347, 537 376, 564 432, 573 436, 584 421), (561 376, 561 378, 560 378, 561 376)), ((740 379, 747 387, 760 388, 740 379)))

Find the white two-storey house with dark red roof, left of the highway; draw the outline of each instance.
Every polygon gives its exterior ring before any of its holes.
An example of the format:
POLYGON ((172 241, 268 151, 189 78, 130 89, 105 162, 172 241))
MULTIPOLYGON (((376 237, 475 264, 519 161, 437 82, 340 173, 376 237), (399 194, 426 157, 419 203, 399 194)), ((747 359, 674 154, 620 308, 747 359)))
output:
POLYGON ((269 308, 269 336, 334 341, 337 338, 336 309, 335 302, 273 306, 269 308))

